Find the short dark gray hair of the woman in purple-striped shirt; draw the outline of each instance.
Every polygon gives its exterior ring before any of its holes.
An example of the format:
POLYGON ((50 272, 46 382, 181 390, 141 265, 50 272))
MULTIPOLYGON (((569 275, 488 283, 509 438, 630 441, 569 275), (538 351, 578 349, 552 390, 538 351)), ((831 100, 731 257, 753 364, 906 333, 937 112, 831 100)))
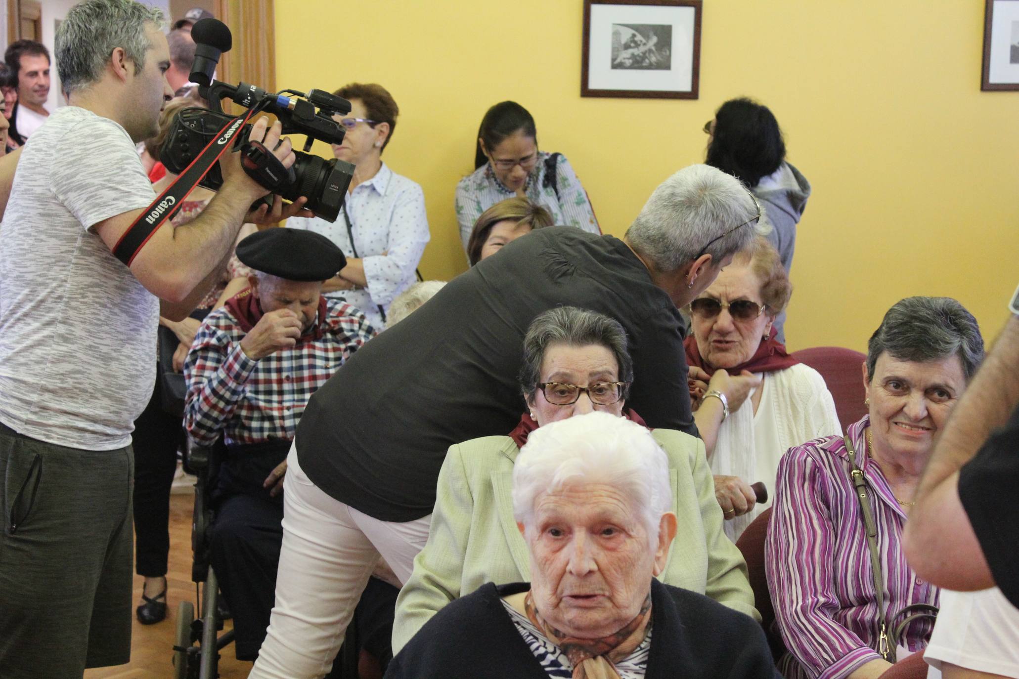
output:
POLYGON ((884 315, 867 342, 867 380, 877 357, 927 362, 957 355, 969 382, 983 360, 983 337, 973 315, 952 297, 906 297, 884 315))

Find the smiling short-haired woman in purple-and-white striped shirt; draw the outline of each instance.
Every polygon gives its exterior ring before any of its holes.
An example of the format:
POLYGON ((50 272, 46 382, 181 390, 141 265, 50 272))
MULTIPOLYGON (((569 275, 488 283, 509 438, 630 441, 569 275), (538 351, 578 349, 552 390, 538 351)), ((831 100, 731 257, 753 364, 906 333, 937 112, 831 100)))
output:
POLYGON ((867 414, 845 438, 783 457, 764 566, 787 679, 878 677, 927 644, 929 616, 911 616, 937 606, 938 588, 906 561, 903 528, 934 439, 982 359, 962 304, 903 299, 867 343, 867 414))

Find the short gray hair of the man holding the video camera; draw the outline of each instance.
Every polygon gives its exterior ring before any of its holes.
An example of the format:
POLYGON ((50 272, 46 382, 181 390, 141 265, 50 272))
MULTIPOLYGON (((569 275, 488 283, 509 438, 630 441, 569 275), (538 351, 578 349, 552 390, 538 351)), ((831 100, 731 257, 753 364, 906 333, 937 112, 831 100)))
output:
POLYGON ((53 50, 64 91, 73 93, 100 80, 118 47, 135 62, 135 72, 141 71, 152 47, 145 35, 148 23, 162 25, 162 10, 135 0, 85 0, 71 7, 53 50))

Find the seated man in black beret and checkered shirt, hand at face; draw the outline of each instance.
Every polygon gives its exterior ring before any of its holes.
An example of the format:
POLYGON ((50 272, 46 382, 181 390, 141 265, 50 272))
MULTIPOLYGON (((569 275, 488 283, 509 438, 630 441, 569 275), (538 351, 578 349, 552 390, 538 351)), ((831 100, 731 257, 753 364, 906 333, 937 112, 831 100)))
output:
POLYGON ((251 288, 206 317, 184 362, 184 425, 226 455, 213 493, 210 561, 233 612, 238 660, 254 660, 273 605, 286 454, 308 399, 375 335, 321 295, 343 253, 311 231, 272 228, 237 244, 251 288))

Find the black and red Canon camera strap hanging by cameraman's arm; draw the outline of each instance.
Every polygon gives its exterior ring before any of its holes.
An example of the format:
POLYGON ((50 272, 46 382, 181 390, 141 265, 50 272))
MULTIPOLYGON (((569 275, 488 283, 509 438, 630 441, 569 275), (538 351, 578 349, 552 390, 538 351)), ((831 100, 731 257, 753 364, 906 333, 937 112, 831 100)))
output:
POLYGON ((157 196, 135 220, 135 223, 124 231, 120 240, 113 246, 114 257, 128 267, 131 265, 135 257, 149 242, 149 238, 156 232, 156 229, 176 213, 177 209, 174 206, 187 197, 187 194, 202 181, 202 178, 216 164, 220 156, 230 148, 233 135, 248 122, 254 112, 255 109, 249 109, 243 115, 238 115, 223 125, 223 128, 192 161, 192 164, 184 168, 184 171, 177 175, 173 183, 167 186, 166 190, 157 196))

